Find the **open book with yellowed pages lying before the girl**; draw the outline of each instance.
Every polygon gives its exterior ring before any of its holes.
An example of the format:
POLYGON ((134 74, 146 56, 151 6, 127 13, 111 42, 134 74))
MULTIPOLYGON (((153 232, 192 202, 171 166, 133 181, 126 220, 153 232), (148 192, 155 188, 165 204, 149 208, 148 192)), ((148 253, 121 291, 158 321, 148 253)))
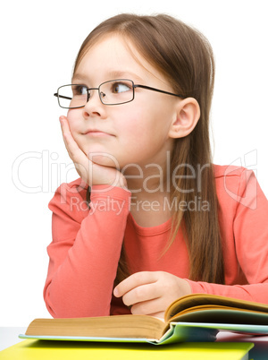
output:
POLYGON ((268 334, 268 304, 192 294, 170 304, 164 321, 147 315, 36 319, 20 338, 167 344, 214 341, 219 330, 268 334))

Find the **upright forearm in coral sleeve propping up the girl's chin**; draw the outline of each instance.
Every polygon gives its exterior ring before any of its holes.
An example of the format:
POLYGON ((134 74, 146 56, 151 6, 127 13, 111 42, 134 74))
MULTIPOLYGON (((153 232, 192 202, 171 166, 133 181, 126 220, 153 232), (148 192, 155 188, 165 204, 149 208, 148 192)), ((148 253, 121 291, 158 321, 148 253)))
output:
POLYGON ((116 188, 112 193, 93 194, 91 210, 75 240, 54 241, 48 246, 50 265, 44 296, 54 317, 110 314, 128 200, 129 193, 116 188))

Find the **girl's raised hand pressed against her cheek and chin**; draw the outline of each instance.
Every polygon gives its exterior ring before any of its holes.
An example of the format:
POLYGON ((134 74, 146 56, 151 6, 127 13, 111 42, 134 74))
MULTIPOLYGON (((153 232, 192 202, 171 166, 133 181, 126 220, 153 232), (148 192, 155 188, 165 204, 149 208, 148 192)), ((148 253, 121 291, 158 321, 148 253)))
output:
POLYGON ((61 116, 60 122, 62 125, 65 147, 83 181, 89 186, 96 184, 110 184, 127 188, 125 177, 115 167, 105 167, 88 159, 87 155, 73 139, 67 117, 61 116))

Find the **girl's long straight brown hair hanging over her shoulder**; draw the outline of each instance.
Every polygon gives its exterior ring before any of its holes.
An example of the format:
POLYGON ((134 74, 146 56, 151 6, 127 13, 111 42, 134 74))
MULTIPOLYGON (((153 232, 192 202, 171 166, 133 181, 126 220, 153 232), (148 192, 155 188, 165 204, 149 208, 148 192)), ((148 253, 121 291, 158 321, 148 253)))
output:
MULTIPOLYGON (((180 227, 188 245, 189 279, 224 283, 222 239, 218 201, 214 184, 209 140, 209 115, 214 92, 214 56, 205 37, 196 29, 171 16, 140 16, 122 13, 103 21, 85 39, 77 56, 74 73, 88 48, 111 33, 130 41, 150 64, 163 73, 174 92, 197 99, 201 116, 188 136, 175 141, 171 173, 171 203, 206 203, 206 209, 172 209, 174 241, 180 227), (176 172, 176 174, 175 174, 176 172)), ((117 281, 126 276, 124 252, 117 281)))

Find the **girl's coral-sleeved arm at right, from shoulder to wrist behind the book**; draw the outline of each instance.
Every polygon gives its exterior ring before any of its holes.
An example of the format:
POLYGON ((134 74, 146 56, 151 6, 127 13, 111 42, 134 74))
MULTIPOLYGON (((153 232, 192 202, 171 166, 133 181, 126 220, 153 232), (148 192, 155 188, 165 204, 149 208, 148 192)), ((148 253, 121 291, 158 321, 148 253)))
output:
POLYGON ((268 203, 252 170, 230 169, 218 185, 226 285, 188 283, 193 293, 268 304, 268 203))

